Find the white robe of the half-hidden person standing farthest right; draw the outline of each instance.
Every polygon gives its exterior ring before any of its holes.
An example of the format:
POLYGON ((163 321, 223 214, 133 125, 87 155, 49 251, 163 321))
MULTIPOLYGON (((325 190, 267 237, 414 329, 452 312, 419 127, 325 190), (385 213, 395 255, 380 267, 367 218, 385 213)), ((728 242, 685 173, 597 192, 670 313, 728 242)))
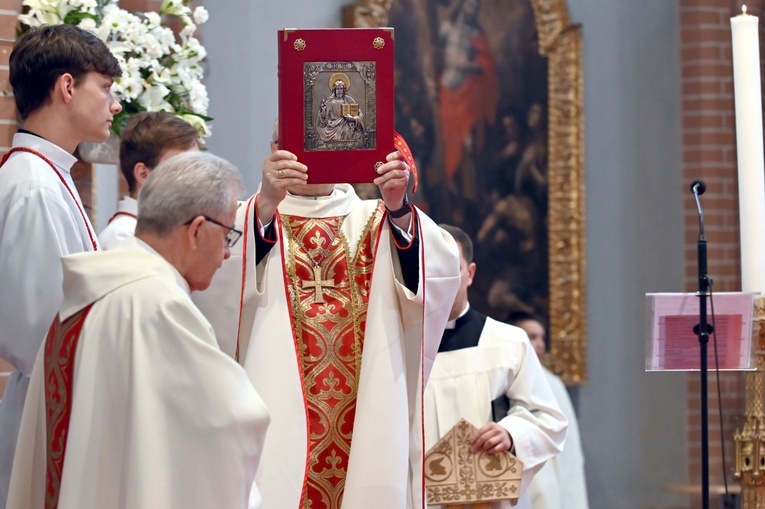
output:
POLYGON ((534 509, 588 509, 584 454, 574 405, 563 381, 547 369, 545 376, 568 418, 568 431, 563 451, 545 463, 531 481, 531 506, 534 509))

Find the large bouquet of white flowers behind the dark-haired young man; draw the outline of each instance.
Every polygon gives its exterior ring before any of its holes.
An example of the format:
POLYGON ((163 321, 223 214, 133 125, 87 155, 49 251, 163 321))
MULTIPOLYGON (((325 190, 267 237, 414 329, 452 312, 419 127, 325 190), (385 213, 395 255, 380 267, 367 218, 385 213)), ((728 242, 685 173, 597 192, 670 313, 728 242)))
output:
POLYGON ((159 12, 132 13, 117 0, 24 0, 18 16, 23 32, 39 25, 71 24, 96 34, 117 58, 122 77, 114 94, 122 104, 112 134, 120 137, 130 115, 139 111, 167 111, 210 135, 209 100, 202 84, 205 48, 194 37, 207 21, 204 7, 192 9, 190 0, 163 0, 159 12), (176 35, 163 26, 172 18, 182 28, 176 35))

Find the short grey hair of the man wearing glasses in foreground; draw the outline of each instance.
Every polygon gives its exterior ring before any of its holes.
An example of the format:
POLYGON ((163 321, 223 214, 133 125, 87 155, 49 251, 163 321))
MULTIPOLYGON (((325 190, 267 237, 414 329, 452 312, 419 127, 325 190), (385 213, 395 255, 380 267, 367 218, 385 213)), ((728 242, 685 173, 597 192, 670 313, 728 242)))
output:
POLYGON ((136 233, 158 236, 197 216, 218 219, 244 192, 239 170, 209 152, 186 152, 160 163, 138 194, 136 233))

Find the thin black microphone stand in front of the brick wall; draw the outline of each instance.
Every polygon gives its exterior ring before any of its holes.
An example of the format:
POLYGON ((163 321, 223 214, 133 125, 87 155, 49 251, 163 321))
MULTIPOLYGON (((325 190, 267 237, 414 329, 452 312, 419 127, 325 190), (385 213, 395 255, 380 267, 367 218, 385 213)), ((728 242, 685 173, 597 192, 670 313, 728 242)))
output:
POLYGON ((693 332, 699 337, 699 355, 701 356, 701 503, 703 509, 709 509, 709 410, 707 401, 707 345, 712 327, 707 323, 707 297, 709 296, 709 277, 707 276, 707 239, 704 236, 704 213, 701 211, 699 195, 704 194, 706 185, 702 180, 694 180, 691 192, 696 199, 699 212, 698 276, 699 276, 699 323, 693 332))

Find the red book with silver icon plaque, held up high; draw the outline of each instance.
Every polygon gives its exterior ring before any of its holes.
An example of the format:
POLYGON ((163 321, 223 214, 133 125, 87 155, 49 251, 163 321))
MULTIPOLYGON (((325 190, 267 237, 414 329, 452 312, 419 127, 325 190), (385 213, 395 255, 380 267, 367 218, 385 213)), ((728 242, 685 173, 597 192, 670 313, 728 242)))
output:
POLYGON ((279 148, 308 182, 372 182, 393 151, 393 29, 284 29, 279 148))

